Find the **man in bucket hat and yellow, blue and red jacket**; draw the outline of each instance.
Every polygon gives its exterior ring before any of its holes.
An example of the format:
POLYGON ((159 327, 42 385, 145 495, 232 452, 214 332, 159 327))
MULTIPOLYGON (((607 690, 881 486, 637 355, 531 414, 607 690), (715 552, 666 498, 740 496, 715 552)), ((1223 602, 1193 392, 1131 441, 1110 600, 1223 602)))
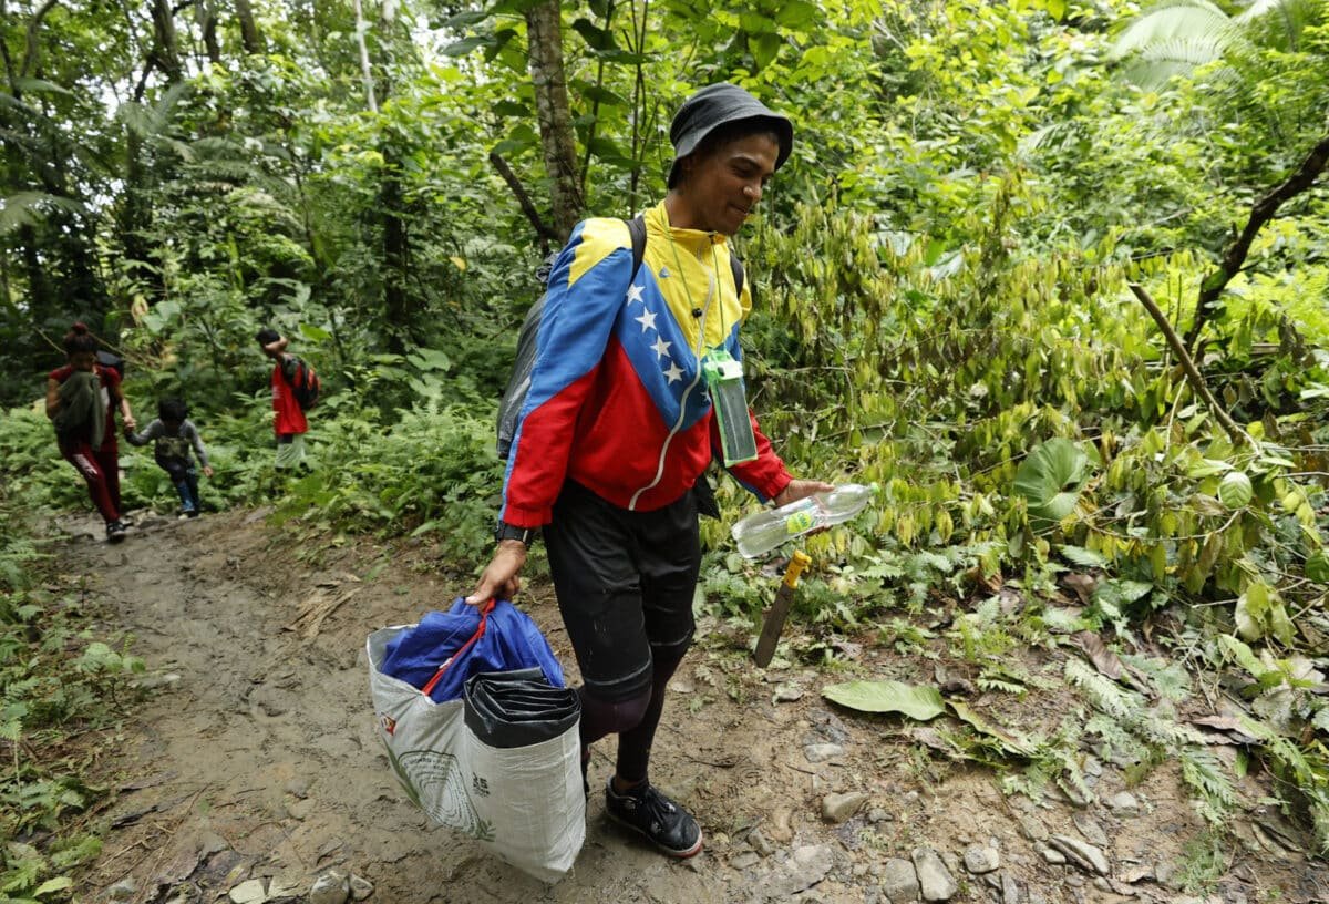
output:
POLYGON ((645 214, 635 275, 619 219, 578 223, 554 263, 508 459, 498 546, 466 602, 514 596, 542 529, 583 681, 583 782, 590 744, 617 733, 609 816, 664 853, 690 857, 702 831, 650 783, 647 766, 664 687, 692 641, 700 570, 692 487, 712 457, 763 501, 783 505, 832 487, 795 480, 742 397, 740 411, 720 416, 726 433, 751 425, 755 452, 726 456, 712 404, 722 396, 703 382, 715 362, 742 360, 739 326, 752 299, 747 284, 735 291, 727 239, 788 158, 793 128, 742 88, 718 84, 679 108, 670 141, 670 190, 645 214))

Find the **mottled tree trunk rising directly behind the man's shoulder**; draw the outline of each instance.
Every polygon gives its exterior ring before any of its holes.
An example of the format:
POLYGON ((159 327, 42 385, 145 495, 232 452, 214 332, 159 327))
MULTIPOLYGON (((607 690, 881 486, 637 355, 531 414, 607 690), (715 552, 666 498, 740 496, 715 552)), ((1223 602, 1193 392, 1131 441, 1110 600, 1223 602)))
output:
POLYGON ((536 86, 536 112, 540 118, 540 144, 553 185, 550 201, 554 230, 560 241, 566 241, 581 219, 585 202, 577 178, 577 136, 567 105, 562 20, 557 0, 541 0, 526 11, 526 35, 530 44, 530 80, 536 86))

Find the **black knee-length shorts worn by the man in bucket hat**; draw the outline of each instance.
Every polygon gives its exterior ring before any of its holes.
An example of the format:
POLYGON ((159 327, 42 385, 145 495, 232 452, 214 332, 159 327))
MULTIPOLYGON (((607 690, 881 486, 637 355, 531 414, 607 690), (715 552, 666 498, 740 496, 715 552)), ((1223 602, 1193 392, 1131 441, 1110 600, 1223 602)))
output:
POLYGON ((629 512, 567 481, 544 536, 586 690, 606 702, 637 697, 651 683, 653 651, 680 657, 692 642, 702 566, 692 493, 629 512))

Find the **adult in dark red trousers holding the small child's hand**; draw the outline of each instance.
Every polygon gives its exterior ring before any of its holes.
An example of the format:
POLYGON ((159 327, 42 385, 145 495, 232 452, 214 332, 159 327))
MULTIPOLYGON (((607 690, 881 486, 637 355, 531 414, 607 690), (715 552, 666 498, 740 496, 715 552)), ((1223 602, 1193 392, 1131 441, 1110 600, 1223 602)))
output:
POLYGON ((125 538, 120 517, 120 444, 116 409, 125 429, 134 413, 120 388, 120 374, 97 363, 97 339, 82 323, 64 338, 69 363, 47 378, 47 417, 56 427, 60 453, 88 483, 88 495, 106 522, 106 540, 125 538))

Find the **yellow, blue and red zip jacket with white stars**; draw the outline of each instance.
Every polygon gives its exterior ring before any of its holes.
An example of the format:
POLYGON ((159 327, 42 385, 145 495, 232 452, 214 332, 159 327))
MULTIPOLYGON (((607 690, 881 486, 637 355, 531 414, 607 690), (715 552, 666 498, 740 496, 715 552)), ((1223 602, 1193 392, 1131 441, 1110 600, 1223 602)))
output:
MULTIPOLYGON (((646 254, 629 284, 627 223, 577 225, 549 277, 504 521, 548 524, 567 479, 625 509, 658 509, 720 457, 699 360, 716 347, 740 360, 752 307, 747 284, 735 295, 728 255, 723 235, 672 229, 662 202, 646 213, 646 254)), ((752 428, 758 457, 730 472, 766 501, 791 476, 755 419, 752 428)))

